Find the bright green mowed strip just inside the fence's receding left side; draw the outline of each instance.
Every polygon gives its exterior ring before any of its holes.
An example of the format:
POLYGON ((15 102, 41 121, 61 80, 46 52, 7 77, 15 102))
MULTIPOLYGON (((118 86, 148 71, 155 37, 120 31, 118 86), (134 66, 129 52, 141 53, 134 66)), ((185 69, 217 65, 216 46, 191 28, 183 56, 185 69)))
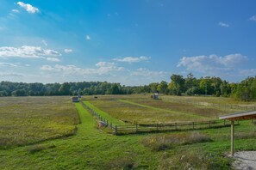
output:
POLYGON ((97 108, 97 106, 93 106, 88 100, 86 100, 86 101, 83 100, 82 102, 84 102, 84 104, 86 106, 89 106, 93 111, 97 112, 97 114, 99 114, 103 118, 107 119, 109 121, 109 123, 112 123, 112 124, 115 124, 115 125, 125 125, 126 124, 122 120, 110 116, 109 113, 103 112, 102 110, 97 108))

